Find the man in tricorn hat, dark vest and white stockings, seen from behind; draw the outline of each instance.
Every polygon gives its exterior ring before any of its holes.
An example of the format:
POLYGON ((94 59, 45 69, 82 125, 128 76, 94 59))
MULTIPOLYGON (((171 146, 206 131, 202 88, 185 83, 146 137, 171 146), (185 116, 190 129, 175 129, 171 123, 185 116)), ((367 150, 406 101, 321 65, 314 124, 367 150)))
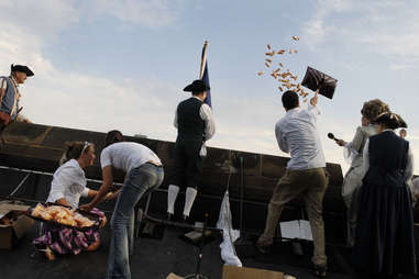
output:
POLYGON ((210 88, 201 79, 185 87, 191 98, 177 105, 174 125, 177 127, 175 145, 175 167, 167 194, 167 213, 170 219, 175 213, 175 201, 180 187, 186 187, 184 219, 189 217, 198 183, 202 174, 202 158, 206 155, 205 142, 210 140, 216 125, 211 108, 203 103, 210 88))

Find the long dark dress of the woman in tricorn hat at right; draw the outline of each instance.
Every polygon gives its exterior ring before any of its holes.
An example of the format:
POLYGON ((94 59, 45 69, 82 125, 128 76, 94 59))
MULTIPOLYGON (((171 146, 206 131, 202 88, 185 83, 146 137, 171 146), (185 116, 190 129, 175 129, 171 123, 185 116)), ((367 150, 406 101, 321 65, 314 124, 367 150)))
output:
POLYGON ((360 271, 417 272, 411 193, 405 178, 408 150, 409 142, 392 131, 370 137, 353 255, 360 271))

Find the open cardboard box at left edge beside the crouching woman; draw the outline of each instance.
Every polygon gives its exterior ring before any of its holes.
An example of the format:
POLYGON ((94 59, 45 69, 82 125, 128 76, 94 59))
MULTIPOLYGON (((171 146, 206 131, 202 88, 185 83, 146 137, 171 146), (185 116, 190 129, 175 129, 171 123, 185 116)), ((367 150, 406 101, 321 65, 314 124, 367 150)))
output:
POLYGON ((34 221, 22 212, 26 211, 29 205, 1 203, 0 219, 15 217, 11 224, 0 224, 0 249, 10 249, 18 243, 24 233, 32 227, 34 221))

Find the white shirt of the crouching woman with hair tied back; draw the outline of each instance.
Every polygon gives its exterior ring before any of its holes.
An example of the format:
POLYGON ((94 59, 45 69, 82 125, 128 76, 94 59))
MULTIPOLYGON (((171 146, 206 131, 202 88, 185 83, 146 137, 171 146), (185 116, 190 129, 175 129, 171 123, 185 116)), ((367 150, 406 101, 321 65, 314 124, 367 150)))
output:
POLYGON ((87 197, 89 193, 90 189, 86 187, 86 183, 85 171, 77 160, 70 159, 54 172, 46 201, 56 202, 64 198, 71 208, 77 209, 80 197, 87 197))

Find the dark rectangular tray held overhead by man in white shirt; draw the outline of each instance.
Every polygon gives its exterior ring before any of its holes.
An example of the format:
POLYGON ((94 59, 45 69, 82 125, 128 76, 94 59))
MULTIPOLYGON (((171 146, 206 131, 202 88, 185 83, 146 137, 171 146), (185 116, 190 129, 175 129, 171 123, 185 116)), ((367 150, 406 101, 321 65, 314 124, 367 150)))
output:
POLYGON ((319 89, 319 93, 332 99, 334 94, 334 89, 337 88, 338 80, 328 76, 320 70, 307 67, 306 75, 302 79, 301 86, 316 91, 319 89))

